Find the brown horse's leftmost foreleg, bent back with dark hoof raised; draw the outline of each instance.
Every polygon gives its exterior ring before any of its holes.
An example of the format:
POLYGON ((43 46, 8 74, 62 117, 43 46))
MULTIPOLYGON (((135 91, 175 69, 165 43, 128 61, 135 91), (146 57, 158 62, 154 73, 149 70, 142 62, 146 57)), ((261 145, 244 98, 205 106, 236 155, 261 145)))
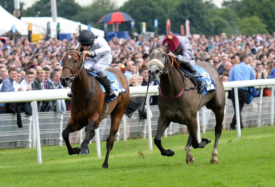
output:
POLYGON ((68 124, 66 126, 66 128, 62 131, 62 137, 66 143, 67 149, 68 149, 68 153, 69 155, 73 155, 73 154, 78 154, 81 150, 80 147, 75 147, 72 148, 70 141, 69 141, 69 134, 71 132, 75 132, 76 130, 74 128, 72 128, 72 126, 75 124, 75 121, 70 118, 68 121, 68 124))

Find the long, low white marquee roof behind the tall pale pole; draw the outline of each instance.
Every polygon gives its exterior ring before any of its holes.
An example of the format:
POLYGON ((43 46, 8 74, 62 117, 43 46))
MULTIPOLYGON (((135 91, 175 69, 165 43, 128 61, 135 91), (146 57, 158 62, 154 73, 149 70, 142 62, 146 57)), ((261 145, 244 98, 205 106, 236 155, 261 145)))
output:
MULTIPOLYGON (((88 29, 88 25, 81 24, 62 17, 57 17, 56 22, 53 22, 52 17, 21 17, 21 20, 25 23, 32 23, 32 25, 43 28, 44 34, 47 33, 47 23, 50 22, 51 37, 56 37, 56 25, 59 23, 60 33, 77 34, 78 26, 80 25, 81 30, 88 29)), ((91 27, 91 31, 97 35, 104 37, 104 31, 97 28, 91 27)))

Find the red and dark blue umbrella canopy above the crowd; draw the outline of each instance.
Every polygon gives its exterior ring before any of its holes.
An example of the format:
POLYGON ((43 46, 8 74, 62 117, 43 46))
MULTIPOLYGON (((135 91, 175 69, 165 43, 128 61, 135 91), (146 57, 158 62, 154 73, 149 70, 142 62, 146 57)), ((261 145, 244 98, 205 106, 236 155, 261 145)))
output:
POLYGON ((125 12, 111 12, 103 16, 98 23, 105 23, 113 24, 115 22, 121 24, 121 22, 130 22, 134 21, 134 19, 125 12))

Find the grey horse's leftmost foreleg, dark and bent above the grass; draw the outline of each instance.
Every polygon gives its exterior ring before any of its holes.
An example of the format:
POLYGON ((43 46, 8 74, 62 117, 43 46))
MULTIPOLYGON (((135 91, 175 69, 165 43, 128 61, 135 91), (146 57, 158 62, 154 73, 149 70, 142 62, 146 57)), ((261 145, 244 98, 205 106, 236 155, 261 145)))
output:
POLYGON ((160 150, 160 153, 162 156, 168 156, 168 157, 172 157, 175 153, 173 150, 171 149, 164 149, 161 145, 161 136, 164 133, 164 131, 166 130, 166 128, 170 125, 169 120, 164 119, 161 115, 158 117, 158 129, 157 129, 157 133, 156 136, 154 138, 154 143, 155 145, 158 147, 158 149, 160 150))

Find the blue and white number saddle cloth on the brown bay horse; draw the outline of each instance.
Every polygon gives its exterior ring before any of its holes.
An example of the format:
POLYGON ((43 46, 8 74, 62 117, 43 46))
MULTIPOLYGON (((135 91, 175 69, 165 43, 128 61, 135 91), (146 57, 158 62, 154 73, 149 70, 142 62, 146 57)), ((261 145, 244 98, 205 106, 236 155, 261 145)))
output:
MULTIPOLYGON (((121 86, 121 84, 120 84, 119 80, 117 79, 117 77, 115 76, 115 74, 108 72, 106 70, 105 70, 105 73, 107 74, 107 78, 110 80, 111 88, 115 92, 116 97, 119 95, 119 93, 126 92, 126 90, 121 86)), ((88 72, 88 74, 93 77, 98 77, 98 74, 96 72, 88 72)), ((102 91, 106 92, 106 90, 105 90, 104 86, 101 84, 101 82, 99 82, 99 84, 102 88, 102 91)), ((114 100, 116 97, 110 99, 109 101, 114 100)), ((108 102, 108 100, 107 100, 107 102, 108 102)))

